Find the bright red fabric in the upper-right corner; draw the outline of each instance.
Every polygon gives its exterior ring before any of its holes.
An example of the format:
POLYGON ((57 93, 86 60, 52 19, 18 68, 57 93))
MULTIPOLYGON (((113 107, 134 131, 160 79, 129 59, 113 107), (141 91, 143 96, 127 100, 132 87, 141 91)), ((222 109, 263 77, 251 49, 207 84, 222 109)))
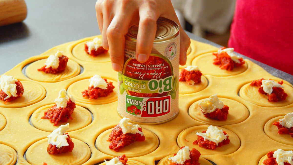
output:
POLYGON ((228 46, 293 75, 293 1, 237 0, 228 46))

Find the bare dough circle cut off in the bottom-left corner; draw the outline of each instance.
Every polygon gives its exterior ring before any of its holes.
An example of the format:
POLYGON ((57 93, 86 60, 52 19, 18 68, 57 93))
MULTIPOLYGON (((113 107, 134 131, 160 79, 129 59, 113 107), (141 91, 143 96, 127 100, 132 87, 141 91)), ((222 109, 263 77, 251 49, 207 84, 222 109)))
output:
POLYGON ((0 144, 0 164, 13 165, 16 163, 16 160, 16 151, 9 146, 0 144))

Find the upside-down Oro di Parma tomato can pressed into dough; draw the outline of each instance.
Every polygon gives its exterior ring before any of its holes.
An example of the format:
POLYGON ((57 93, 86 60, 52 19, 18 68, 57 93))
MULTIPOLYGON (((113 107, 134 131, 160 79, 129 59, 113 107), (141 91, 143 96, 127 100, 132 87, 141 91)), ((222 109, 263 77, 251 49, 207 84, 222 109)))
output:
POLYGON ((158 19, 145 63, 136 59, 137 32, 138 25, 132 25, 125 36, 124 67, 118 72, 118 113, 139 124, 168 122, 179 112, 179 26, 167 18, 158 19))

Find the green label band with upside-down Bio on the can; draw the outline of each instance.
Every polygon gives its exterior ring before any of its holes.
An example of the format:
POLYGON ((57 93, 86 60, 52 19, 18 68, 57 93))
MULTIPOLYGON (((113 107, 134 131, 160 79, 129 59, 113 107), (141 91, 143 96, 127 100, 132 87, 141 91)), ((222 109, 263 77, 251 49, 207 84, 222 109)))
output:
POLYGON ((124 89, 139 93, 163 93, 173 88, 173 76, 159 80, 137 80, 122 75, 122 81, 124 89))

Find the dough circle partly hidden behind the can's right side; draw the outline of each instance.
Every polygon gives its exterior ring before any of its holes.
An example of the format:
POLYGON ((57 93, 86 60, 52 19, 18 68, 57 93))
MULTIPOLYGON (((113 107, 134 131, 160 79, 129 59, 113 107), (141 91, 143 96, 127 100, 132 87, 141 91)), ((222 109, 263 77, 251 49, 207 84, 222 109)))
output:
POLYGON ((179 94, 188 94, 199 92, 207 87, 207 78, 201 76, 201 82, 194 85, 186 83, 186 81, 179 81, 179 94))

